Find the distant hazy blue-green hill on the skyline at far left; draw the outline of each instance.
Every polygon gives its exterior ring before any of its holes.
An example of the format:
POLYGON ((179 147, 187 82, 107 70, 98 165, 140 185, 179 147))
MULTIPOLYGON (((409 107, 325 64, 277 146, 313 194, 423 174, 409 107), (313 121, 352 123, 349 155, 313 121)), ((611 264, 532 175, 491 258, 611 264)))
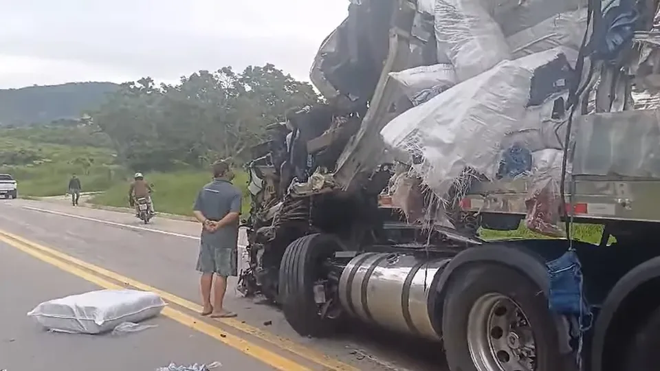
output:
POLYGON ((48 124, 76 119, 96 109, 107 93, 119 89, 112 82, 70 82, 63 85, 0 89, 0 126, 48 124))

